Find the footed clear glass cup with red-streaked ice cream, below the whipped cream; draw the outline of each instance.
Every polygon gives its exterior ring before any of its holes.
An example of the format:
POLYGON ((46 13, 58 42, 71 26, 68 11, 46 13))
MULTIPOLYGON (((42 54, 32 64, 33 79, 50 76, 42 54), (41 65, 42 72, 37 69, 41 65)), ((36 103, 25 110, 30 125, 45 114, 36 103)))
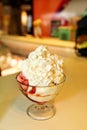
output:
POLYGON ((47 120, 52 118, 56 113, 53 101, 62 89, 66 76, 63 74, 61 81, 58 84, 53 84, 51 86, 28 85, 27 80, 23 79, 21 73, 17 75, 16 79, 19 83, 20 91, 28 99, 34 102, 34 104, 27 108, 27 114, 36 120, 47 120))

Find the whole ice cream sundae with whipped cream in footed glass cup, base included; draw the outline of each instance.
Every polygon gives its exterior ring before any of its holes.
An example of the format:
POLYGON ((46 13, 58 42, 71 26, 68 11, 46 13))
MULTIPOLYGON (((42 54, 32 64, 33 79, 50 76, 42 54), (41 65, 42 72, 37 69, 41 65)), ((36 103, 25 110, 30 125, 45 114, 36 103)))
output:
POLYGON ((19 89, 34 102, 27 108, 27 114, 36 120, 53 117, 56 112, 53 100, 66 79, 63 60, 41 45, 20 63, 20 68, 16 77, 19 89))

